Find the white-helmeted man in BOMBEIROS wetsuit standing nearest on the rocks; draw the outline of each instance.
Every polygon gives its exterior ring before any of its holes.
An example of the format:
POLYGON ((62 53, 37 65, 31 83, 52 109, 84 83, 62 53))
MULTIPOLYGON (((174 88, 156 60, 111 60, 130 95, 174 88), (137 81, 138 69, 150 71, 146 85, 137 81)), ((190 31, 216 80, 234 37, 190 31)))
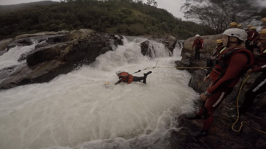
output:
POLYGON ((188 119, 201 119, 203 116, 203 128, 201 131, 191 132, 190 135, 203 137, 208 134, 213 122, 213 111, 233 91, 240 77, 254 64, 254 55, 241 46, 247 37, 247 33, 239 28, 230 28, 223 32, 223 46, 227 48, 220 53, 211 73, 203 80, 208 82, 211 79, 207 90, 200 95, 204 104, 197 115, 186 115, 188 119))

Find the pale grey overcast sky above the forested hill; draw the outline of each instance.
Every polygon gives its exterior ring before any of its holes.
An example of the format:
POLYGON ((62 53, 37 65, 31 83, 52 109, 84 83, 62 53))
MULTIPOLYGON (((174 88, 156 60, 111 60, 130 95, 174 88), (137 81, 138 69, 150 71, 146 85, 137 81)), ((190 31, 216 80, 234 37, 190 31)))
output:
MULTIPOLYGON (((29 3, 34 1, 41 0, 0 0, 0 5, 12 5, 12 4, 21 4, 29 3)), ((51 1, 60 1, 60 0, 51 0, 51 1)), ((157 1, 158 8, 166 9, 168 12, 172 13, 177 18, 182 18, 184 20, 184 14, 180 12, 180 7, 184 3, 182 0, 155 0, 157 1)))

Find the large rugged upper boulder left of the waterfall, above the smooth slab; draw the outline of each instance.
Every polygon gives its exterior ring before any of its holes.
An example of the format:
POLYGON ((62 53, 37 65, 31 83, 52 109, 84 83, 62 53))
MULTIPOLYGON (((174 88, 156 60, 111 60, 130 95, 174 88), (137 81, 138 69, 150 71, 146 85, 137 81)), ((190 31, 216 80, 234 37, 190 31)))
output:
POLYGON ((108 34, 96 34, 94 31, 76 31, 50 38, 48 41, 50 43, 36 45, 35 49, 27 55, 26 60, 29 66, 52 59, 68 62, 85 60, 91 63, 100 54, 113 50, 112 46, 121 44, 122 40, 115 36, 109 37, 108 34), (63 42, 69 39, 71 40, 63 42))

